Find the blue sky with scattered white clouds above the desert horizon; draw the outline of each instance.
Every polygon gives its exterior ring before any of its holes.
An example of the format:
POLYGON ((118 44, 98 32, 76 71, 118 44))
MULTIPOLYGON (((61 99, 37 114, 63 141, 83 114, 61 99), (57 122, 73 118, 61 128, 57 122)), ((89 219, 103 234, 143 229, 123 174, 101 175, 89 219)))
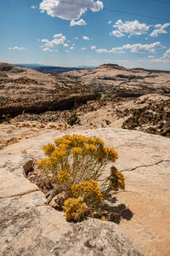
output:
POLYGON ((170 70, 170 0, 0 0, 0 62, 170 70))

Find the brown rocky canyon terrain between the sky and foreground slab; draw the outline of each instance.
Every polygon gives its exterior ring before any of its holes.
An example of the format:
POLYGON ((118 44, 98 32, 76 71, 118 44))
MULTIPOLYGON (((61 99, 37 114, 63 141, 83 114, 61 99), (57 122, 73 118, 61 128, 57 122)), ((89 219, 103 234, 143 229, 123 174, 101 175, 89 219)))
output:
POLYGON ((170 137, 170 73, 107 64, 52 75, 1 63, 0 89, 1 120, 15 127, 52 122, 170 137))

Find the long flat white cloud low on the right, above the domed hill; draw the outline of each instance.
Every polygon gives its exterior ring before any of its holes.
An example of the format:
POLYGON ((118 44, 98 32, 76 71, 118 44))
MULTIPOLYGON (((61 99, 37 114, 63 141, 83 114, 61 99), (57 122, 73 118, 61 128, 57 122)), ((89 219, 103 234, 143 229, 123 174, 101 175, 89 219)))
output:
POLYGON ((110 53, 125 53, 126 49, 130 49, 133 53, 141 53, 141 54, 149 54, 155 53, 156 49, 165 48, 161 45, 160 42, 152 43, 152 44, 123 44, 122 47, 112 48, 110 53))

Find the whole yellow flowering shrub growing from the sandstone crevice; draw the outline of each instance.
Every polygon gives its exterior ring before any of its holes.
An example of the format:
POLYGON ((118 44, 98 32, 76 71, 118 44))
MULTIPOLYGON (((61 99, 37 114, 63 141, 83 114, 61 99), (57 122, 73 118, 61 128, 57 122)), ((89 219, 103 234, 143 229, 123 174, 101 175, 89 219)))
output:
POLYGON ((67 220, 77 220, 87 208, 99 206, 111 190, 125 189, 124 177, 114 166, 110 177, 100 183, 105 167, 114 163, 118 154, 99 137, 65 135, 54 143, 43 146, 48 158, 39 161, 38 167, 65 193, 67 220))

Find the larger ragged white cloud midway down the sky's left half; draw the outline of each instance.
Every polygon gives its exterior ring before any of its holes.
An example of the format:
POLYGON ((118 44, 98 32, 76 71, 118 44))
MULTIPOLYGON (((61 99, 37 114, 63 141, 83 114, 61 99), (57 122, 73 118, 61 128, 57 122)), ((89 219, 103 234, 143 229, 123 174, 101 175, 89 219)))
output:
POLYGON ((52 39, 51 41, 48 39, 42 39, 40 40, 43 44, 41 47, 45 47, 45 48, 53 48, 54 45, 63 45, 64 47, 68 47, 68 44, 65 43, 65 36, 62 33, 59 34, 55 34, 54 35, 54 39, 52 39))

